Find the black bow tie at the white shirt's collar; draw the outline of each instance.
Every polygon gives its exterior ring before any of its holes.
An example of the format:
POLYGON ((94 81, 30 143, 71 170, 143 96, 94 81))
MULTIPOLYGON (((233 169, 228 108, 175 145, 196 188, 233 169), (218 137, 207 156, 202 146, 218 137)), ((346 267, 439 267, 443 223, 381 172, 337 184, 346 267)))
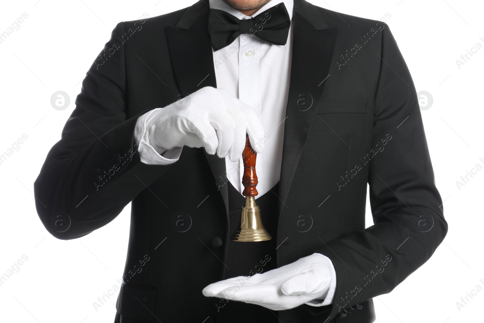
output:
POLYGON ((271 44, 286 45, 291 20, 284 3, 250 19, 238 19, 219 9, 210 10, 209 33, 213 50, 231 44, 241 34, 253 34, 271 44))

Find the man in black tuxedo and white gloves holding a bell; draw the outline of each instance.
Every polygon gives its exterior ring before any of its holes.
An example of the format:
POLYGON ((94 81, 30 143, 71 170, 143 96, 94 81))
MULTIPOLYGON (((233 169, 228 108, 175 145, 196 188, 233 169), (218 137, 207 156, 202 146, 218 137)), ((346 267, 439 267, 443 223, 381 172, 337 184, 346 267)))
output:
POLYGON ((305 0, 200 0, 118 24, 35 194, 65 240, 132 201, 119 323, 374 322, 372 297, 447 232, 388 26, 305 0), (230 239, 246 133, 265 242, 230 239))

